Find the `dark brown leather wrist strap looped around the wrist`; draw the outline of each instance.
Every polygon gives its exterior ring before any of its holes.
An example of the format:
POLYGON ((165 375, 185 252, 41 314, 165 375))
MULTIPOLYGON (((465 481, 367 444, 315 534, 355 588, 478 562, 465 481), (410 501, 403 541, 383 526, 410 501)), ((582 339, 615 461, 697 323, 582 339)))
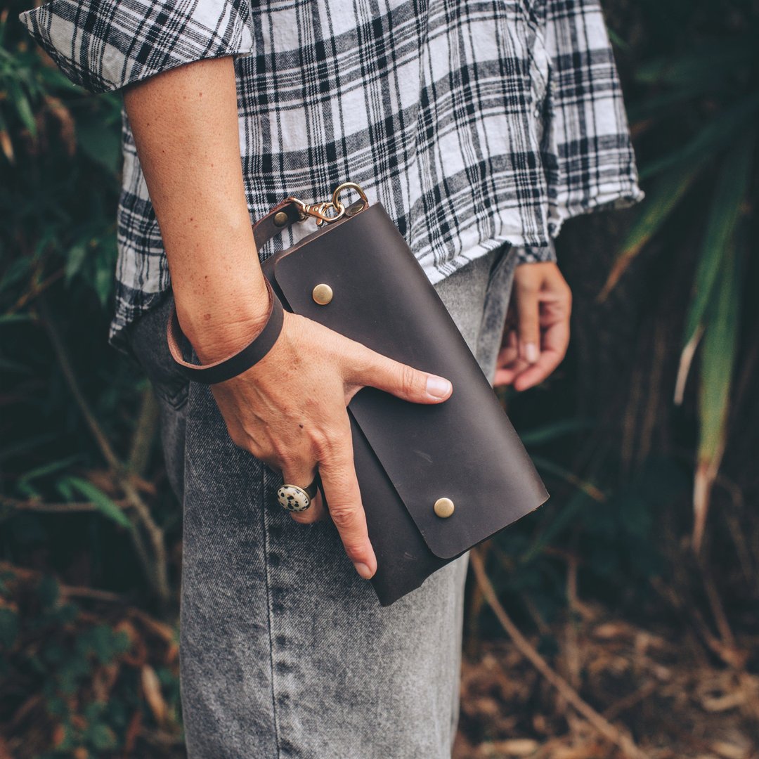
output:
POLYGON ((215 385, 216 383, 225 382, 238 374, 250 369, 257 364, 271 349, 282 332, 282 324, 285 321, 285 314, 282 309, 282 303, 277 298, 276 293, 272 290, 272 285, 266 277, 266 290, 269 293, 269 314, 266 317, 266 323, 263 329, 257 333, 252 342, 248 343, 241 351, 231 356, 214 361, 213 364, 190 364, 184 361, 179 348, 179 342, 184 338, 184 333, 179 326, 177 310, 172 307, 171 316, 168 317, 166 324, 166 339, 168 341, 168 350, 171 351, 177 367, 187 379, 192 382, 199 382, 203 385, 215 385))

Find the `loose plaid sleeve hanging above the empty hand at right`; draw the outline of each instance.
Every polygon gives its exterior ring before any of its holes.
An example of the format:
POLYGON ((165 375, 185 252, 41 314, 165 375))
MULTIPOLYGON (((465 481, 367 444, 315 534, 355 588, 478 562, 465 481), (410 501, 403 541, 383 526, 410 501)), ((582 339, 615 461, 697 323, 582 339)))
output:
POLYGON ((545 39, 550 77, 541 157, 556 236, 565 219, 644 196, 598 0, 546 0, 545 39))

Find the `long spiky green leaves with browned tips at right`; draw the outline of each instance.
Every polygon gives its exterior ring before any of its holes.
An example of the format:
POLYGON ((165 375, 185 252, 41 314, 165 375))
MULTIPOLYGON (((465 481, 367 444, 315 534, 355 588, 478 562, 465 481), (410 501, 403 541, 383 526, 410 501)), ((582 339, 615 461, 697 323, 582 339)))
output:
POLYGON ((726 444, 751 243, 748 211, 756 199, 759 14, 750 2, 669 2, 647 12, 680 33, 635 69, 642 93, 628 115, 639 143, 654 144, 641 165, 650 189, 600 298, 645 245, 679 223, 673 221, 678 206, 687 206, 701 234, 675 396, 682 402, 701 342, 694 483, 694 544, 700 546, 726 444))

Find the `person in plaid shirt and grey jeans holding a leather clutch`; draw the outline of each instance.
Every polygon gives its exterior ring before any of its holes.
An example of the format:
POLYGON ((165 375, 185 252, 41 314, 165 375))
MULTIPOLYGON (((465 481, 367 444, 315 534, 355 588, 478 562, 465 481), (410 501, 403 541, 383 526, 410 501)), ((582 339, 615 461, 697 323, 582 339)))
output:
POLYGON ((449 756, 467 556, 379 607, 346 406, 367 385, 441 403, 450 383, 287 313, 258 364, 188 385, 165 320, 175 304, 204 364, 247 345, 272 252, 251 220, 350 180, 490 379, 540 382, 568 342, 552 238, 641 197, 597 0, 52 0, 20 18, 72 80, 123 93, 110 339, 153 380, 183 504, 189 755, 449 756), (282 483, 317 471, 329 514, 321 496, 281 509, 282 483))

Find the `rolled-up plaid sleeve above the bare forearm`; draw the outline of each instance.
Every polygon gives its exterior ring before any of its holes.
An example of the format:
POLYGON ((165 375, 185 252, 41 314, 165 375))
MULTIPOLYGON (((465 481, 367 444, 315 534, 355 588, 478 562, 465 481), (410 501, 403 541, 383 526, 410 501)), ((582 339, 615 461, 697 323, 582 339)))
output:
POLYGON ((52 0, 19 19, 90 93, 202 58, 253 52, 250 0, 52 0))

